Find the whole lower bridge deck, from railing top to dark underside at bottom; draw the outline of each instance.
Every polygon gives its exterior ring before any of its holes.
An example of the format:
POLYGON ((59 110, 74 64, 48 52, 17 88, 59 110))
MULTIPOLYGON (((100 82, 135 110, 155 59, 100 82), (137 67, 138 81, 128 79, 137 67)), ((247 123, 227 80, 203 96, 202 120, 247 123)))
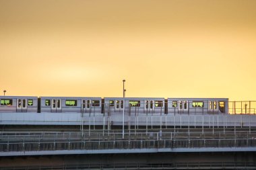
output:
POLYGON ((255 128, 2 131, 0 169, 256 169, 255 128))

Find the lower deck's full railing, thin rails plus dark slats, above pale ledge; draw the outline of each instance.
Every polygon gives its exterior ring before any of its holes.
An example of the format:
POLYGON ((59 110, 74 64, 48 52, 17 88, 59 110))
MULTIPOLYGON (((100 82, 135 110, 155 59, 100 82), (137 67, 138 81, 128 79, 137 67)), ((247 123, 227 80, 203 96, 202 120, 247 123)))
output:
POLYGON ((2 135, 0 152, 256 146, 256 132, 101 132, 2 135))

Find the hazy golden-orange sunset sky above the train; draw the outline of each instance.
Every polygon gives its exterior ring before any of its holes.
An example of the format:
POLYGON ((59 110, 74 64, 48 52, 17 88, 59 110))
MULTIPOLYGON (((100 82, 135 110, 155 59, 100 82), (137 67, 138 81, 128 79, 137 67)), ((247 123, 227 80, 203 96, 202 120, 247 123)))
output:
POLYGON ((0 0, 0 94, 256 100, 255 0, 0 0))

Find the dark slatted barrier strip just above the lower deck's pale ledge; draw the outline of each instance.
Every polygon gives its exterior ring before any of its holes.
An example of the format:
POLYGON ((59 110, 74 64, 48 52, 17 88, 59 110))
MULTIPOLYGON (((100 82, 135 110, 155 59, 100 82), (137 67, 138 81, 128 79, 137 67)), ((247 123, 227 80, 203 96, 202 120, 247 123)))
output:
POLYGON ((15 142, 0 143, 0 152, 13 151, 63 151, 141 148, 221 148, 256 146, 254 139, 205 139, 205 140, 118 140, 73 142, 15 142))

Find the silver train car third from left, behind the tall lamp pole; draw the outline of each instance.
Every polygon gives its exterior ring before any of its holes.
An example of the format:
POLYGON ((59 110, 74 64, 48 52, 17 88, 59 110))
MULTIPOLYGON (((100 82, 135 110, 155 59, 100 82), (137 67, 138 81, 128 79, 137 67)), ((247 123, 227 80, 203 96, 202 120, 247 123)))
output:
POLYGON ((105 97, 104 113, 111 115, 123 112, 134 115, 164 114, 164 97, 105 97))

